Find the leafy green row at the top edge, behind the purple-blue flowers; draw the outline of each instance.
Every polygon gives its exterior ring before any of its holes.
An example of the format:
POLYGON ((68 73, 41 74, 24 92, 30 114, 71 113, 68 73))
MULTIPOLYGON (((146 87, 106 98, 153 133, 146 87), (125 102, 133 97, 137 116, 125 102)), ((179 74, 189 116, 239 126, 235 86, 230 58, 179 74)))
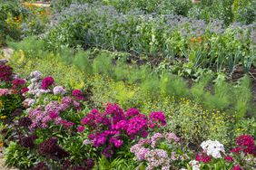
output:
POLYGON ((251 24, 256 19, 256 3, 253 0, 201 0, 192 4, 192 0, 53 0, 54 10, 61 11, 72 3, 94 3, 97 5, 111 5, 118 12, 127 14, 131 11, 142 11, 144 14, 177 14, 191 18, 202 19, 207 22, 220 19, 226 25, 231 23, 251 24))

